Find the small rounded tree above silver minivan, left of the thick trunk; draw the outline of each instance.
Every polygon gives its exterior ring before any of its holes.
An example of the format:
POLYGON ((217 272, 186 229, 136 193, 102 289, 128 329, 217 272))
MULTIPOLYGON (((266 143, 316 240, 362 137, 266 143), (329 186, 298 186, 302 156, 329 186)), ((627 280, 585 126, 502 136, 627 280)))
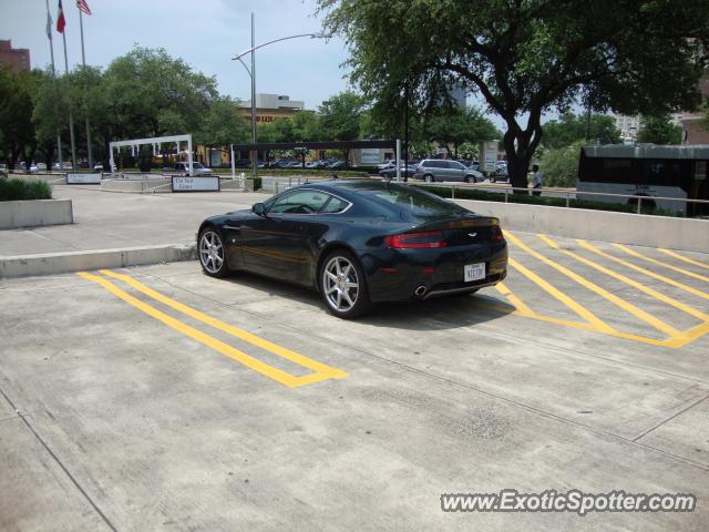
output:
POLYGON ((446 149, 449 145, 453 146, 455 158, 461 144, 465 142, 492 141, 501 136, 494 124, 474 106, 444 109, 427 121, 425 131, 431 141, 436 141, 446 149))

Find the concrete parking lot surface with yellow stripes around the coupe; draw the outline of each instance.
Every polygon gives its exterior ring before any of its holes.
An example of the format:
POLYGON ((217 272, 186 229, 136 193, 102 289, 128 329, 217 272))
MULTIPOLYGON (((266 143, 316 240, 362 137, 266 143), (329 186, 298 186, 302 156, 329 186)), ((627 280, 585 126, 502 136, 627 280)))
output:
POLYGON ((2 530, 707 530, 709 256, 507 233, 357 321, 195 263, 0 282, 2 530), (444 513, 446 492, 692 513, 444 513))

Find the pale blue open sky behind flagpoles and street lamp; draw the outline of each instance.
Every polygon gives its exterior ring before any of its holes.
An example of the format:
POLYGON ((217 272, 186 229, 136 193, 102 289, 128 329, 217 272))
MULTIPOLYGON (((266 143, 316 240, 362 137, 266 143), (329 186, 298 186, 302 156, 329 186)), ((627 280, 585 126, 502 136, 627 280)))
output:
MULTIPOLYGON (((54 61, 63 72, 61 33, 55 31, 58 0, 50 0, 54 61)), ((250 81, 232 58, 250 48, 250 13, 256 16, 256 44, 281 37, 321 31, 315 0, 86 0, 83 17, 86 64, 106 68, 135 44, 164 48, 194 70, 216 76, 222 94, 250 99, 250 81)), ((79 9, 63 0, 69 66, 81 64, 79 9)), ((45 0, 0 0, 0 39, 28 48, 32 68, 51 63, 45 0)), ((339 38, 292 39, 256 52, 256 92, 288 94, 306 109, 349 88, 339 38)), ((247 61, 248 63, 248 61, 247 61)))

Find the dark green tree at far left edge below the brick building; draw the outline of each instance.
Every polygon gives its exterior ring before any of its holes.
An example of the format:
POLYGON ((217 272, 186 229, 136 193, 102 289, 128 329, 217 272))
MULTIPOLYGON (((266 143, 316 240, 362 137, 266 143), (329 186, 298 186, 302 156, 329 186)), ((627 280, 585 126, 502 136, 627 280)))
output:
POLYGON ((32 75, 0 66, 0 150, 9 168, 27 149, 30 160, 34 154, 32 109, 32 75))

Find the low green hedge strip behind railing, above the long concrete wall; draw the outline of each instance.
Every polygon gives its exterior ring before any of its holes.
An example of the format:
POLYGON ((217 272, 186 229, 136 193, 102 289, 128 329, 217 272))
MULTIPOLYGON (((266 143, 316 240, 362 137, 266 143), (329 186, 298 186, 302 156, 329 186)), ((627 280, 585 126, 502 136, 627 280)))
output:
MULTIPOLYGON (((427 191, 442 197, 451 197, 450 187, 427 186, 427 191)), ((486 192, 480 190, 464 190, 455 188, 456 200, 480 200, 484 202, 504 202, 505 195, 500 192, 486 192)), ((524 203, 528 205, 546 205, 551 207, 565 207, 565 197, 549 197, 549 196, 532 196, 530 194, 507 194, 508 203, 524 203)), ((618 203, 604 203, 592 202, 588 200, 569 200, 568 206, 571 208, 590 208, 594 211, 612 211, 617 213, 637 213, 638 207, 636 205, 624 205, 618 203)), ((672 211, 666 211, 662 208, 643 207, 643 214, 653 214, 658 216, 675 216, 681 217, 680 213, 672 211)))

